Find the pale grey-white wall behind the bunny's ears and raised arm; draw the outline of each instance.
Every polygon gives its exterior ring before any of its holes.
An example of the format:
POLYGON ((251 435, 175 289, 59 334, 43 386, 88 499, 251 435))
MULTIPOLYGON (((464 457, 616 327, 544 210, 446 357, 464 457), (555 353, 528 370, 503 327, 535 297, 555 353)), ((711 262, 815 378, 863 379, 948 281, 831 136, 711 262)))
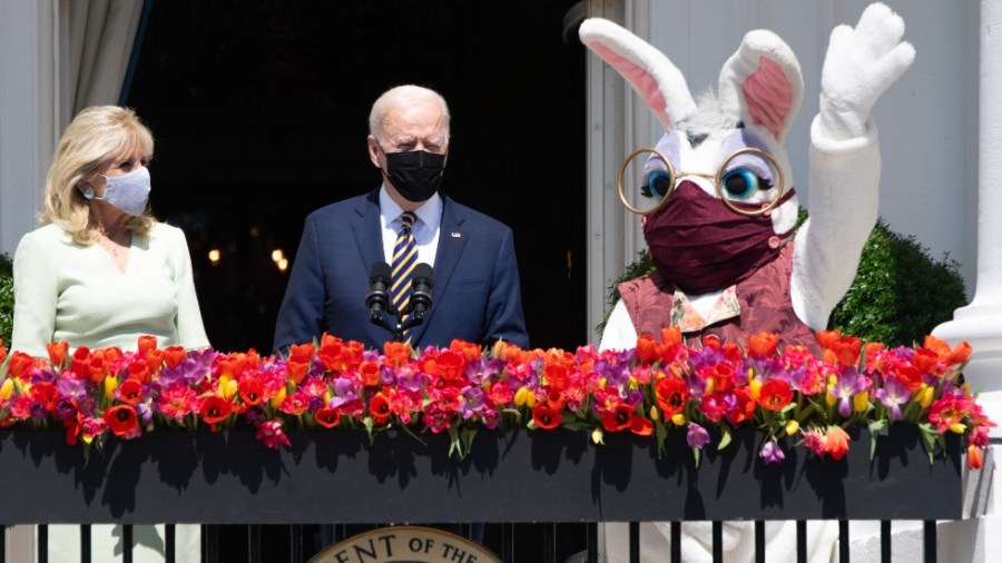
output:
MULTIPOLYGON (((836 24, 855 26, 864 0, 627 0, 625 24, 665 52, 694 95, 717 86, 720 67, 744 34, 775 31, 800 61, 804 103, 787 149, 800 201, 809 208, 808 127, 817 113, 822 62, 836 24)), ((896 233, 914 235, 935 258, 961 263, 973 296, 976 271, 978 46, 975 0, 887 0, 915 46, 912 68, 874 109, 883 176, 880 215, 896 233)), ((661 128, 639 98, 628 95, 626 156, 652 145, 661 128), (630 106, 630 103, 632 106, 630 106)), ((642 248, 639 228, 626 248, 642 248)), ((627 261, 633 256, 625 253, 627 261)))

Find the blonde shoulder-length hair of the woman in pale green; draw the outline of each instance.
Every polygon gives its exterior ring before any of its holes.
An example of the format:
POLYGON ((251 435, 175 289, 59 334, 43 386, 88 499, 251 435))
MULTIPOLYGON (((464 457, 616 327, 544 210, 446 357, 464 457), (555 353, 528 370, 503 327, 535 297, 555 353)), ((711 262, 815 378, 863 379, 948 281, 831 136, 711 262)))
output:
MULTIPOLYGON (((45 208, 39 216, 40 223, 61 227, 79 244, 97 241, 98 233, 90 224, 90 206, 80 189, 104 166, 136 150, 144 162, 153 158, 153 134, 139 121, 135 111, 118 106, 82 109, 66 128, 56 147, 52 166, 46 176, 45 208)), ((143 214, 129 217, 126 229, 145 235, 155 224, 153 216, 143 214)))

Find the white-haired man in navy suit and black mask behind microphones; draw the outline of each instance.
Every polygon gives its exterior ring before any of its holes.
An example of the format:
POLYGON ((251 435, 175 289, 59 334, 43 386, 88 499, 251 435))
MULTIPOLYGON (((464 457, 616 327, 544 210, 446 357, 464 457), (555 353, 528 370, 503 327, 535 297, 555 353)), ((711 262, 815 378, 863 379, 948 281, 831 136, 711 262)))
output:
POLYGON ((382 350, 393 335, 370 322, 370 273, 379 261, 393 264, 404 211, 414 217, 416 259, 434 273, 431 307, 407 333, 411 345, 503 339, 528 348, 511 229, 439 189, 449 155, 445 100, 418 86, 393 88, 373 105, 369 127, 369 156, 383 184, 306 218, 275 349, 327 333, 382 350))

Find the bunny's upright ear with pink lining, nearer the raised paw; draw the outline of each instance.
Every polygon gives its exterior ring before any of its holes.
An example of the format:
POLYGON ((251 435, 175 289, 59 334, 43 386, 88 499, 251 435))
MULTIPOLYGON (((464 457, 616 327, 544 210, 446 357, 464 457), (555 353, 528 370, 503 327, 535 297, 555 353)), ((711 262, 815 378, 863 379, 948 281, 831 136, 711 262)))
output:
POLYGON ((725 111, 783 142, 804 98, 800 63, 772 31, 749 31, 720 70, 719 97, 725 111))

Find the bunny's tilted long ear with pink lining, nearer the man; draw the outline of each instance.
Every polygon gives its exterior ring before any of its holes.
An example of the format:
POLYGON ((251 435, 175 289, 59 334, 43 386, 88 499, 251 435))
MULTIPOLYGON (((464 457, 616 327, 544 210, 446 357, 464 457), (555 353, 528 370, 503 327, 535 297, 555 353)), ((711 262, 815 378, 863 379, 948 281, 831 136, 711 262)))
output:
POLYGON ((696 110, 681 72, 647 41, 601 18, 581 22, 578 34, 633 87, 665 129, 696 110))

